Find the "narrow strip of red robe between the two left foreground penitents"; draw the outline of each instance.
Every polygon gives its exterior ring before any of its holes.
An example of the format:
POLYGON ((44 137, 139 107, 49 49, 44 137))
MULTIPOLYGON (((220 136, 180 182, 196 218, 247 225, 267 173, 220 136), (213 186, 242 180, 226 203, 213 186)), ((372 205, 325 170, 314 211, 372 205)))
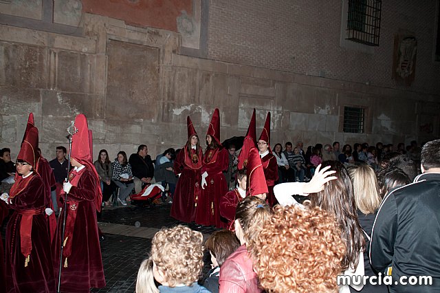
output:
MULTIPOLYGON (((52 170, 52 167, 50 166, 49 162, 47 162, 47 160, 43 157, 38 158, 38 161, 36 162, 35 170, 37 173, 39 173, 41 179, 44 182, 45 195, 47 197, 46 208, 51 208, 52 210, 54 210, 54 204, 52 203, 52 195, 51 195, 52 187, 54 187, 56 184, 54 171, 52 170)), ((50 242, 52 243, 56 231, 55 213, 52 213, 52 215, 50 216, 45 215, 45 217, 47 220, 47 230, 49 231, 50 242)))

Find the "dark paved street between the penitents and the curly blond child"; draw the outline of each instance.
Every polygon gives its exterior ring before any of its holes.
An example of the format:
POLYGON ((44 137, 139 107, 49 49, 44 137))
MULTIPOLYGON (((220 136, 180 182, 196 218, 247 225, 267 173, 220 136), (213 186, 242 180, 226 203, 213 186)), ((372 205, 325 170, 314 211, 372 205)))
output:
MULTIPOLYGON (((102 263, 107 286, 92 289, 91 292, 134 292, 137 270, 140 263, 148 256, 151 239, 155 232, 166 226, 179 223, 170 215, 170 204, 157 206, 126 206, 122 208, 104 209, 98 218, 98 225, 104 232, 101 242, 102 263), (135 223, 139 222, 136 225, 135 223)), ((187 225, 187 224, 184 224, 187 225)), ((5 225, 4 225, 5 226, 5 225)), ((187 225, 203 233, 207 237, 215 228, 187 225)), ((4 241, 5 228, 1 235, 4 241)), ((209 253, 205 255, 203 272, 210 268, 209 253)))

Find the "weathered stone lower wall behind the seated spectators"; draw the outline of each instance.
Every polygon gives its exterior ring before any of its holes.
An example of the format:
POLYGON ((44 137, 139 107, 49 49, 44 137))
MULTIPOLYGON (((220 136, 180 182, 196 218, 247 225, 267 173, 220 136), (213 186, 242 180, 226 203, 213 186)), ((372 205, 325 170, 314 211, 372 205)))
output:
MULTIPOLYGON (((65 129, 77 113, 85 113, 94 131, 96 158, 99 149, 114 157, 120 150, 135 152, 140 143, 148 144, 152 156, 179 148, 186 142, 187 115, 203 138, 215 107, 221 112, 221 140, 244 135, 254 107, 258 131, 272 112, 272 145, 287 140, 306 146, 334 140, 408 144, 439 136, 439 96, 428 89, 184 56, 176 32, 88 13, 78 21, 74 35, 60 25, 0 25, 0 146, 10 146, 13 158, 30 111, 47 158, 54 157, 55 146, 67 146, 65 129), (366 133, 342 132, 346 105, 365 107, 366 133)), ((428 78, 439 74, 430 72, 428 78)))

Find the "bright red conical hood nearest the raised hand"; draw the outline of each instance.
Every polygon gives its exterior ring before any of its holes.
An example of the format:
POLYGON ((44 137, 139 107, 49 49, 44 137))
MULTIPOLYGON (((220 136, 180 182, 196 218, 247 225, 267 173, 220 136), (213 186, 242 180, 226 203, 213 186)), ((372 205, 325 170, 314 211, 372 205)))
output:
POLYGON ((246 166, 246 175, 248 175, 248 191, 250 195, 259 195, 268 193, 266 178, 264 176, 263 164, 259 151, 253 147, 249 151, 248 166, 246 166))

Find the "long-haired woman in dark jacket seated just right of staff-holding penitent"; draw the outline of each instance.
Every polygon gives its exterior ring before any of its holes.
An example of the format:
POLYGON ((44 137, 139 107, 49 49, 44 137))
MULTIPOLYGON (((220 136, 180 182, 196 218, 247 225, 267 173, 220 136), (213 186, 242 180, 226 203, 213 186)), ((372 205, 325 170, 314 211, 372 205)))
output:
POLYGON ((105 206, 111 206, 109 199, 117 186, 115 182, 111 181, 111 162, 106 149, 99 151, 98 160, 94 162, 94 165, 101 184, 102 202, 105 206))

